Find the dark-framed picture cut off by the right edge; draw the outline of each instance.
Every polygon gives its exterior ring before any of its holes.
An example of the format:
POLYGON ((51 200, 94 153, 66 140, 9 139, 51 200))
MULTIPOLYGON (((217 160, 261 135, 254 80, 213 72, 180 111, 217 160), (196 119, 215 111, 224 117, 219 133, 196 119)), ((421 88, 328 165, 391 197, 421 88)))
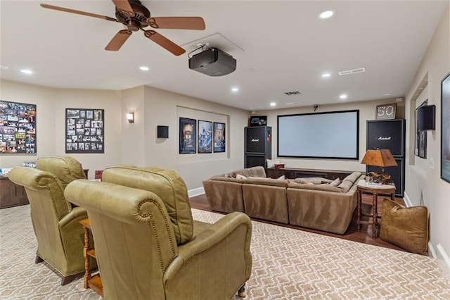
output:
POLYGON ((441 82, 441 178, 450 182, 450 74, 441 82))

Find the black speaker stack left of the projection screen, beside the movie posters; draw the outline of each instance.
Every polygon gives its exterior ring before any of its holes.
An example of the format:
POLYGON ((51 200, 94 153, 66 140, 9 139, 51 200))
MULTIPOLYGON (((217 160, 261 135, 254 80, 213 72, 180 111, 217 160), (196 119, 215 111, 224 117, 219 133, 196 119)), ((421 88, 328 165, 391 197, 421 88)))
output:
POLYGON ((245 127, 244 167, 262 165, 266 168, 267 159, 272 158, 272 127, 245 127))

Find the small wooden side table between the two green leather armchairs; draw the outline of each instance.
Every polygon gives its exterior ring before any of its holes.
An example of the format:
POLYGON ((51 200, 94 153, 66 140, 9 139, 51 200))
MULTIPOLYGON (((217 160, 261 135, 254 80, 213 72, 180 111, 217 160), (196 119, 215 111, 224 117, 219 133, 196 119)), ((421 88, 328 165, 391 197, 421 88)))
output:
POLYGON ((89 263, 89 257, 96 258, 96 250, 91 249, 89 245, 89 232, 91 231, 91 222, 89 219, 84 219, 79 221, 84 228, 84 288, 89 289, 89 287, 94 290, 97 294, 103 297, 103 285, 101 283, 100 273, 96 275, 91 275, 91 264, 89 263))

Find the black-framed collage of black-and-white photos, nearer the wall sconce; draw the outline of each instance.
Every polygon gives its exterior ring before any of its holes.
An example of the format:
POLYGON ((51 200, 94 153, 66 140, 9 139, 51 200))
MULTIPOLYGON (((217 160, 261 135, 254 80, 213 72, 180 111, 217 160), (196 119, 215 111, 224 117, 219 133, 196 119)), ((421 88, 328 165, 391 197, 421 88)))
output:
POLYGON ((105 111, 65 108, 65 153, 105 153, 105 111))

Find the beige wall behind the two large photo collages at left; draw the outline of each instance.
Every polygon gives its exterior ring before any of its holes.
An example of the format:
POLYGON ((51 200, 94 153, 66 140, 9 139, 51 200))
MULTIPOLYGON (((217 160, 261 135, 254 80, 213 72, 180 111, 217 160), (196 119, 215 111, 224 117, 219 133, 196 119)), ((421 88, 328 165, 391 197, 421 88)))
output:
POLYGON ((1 99, 37 104, 37 154, 1 155, 0 166, 12 168, 42 156, 65 154, 65 108, 102 108, 105 110, 105 154, 71 154, 88 168, 89 177, 95 170, 103 170, 120 163, 122 152, 122 116, 120 92, 85 89, 53 89, 37 85, 1 80, 1 99))

